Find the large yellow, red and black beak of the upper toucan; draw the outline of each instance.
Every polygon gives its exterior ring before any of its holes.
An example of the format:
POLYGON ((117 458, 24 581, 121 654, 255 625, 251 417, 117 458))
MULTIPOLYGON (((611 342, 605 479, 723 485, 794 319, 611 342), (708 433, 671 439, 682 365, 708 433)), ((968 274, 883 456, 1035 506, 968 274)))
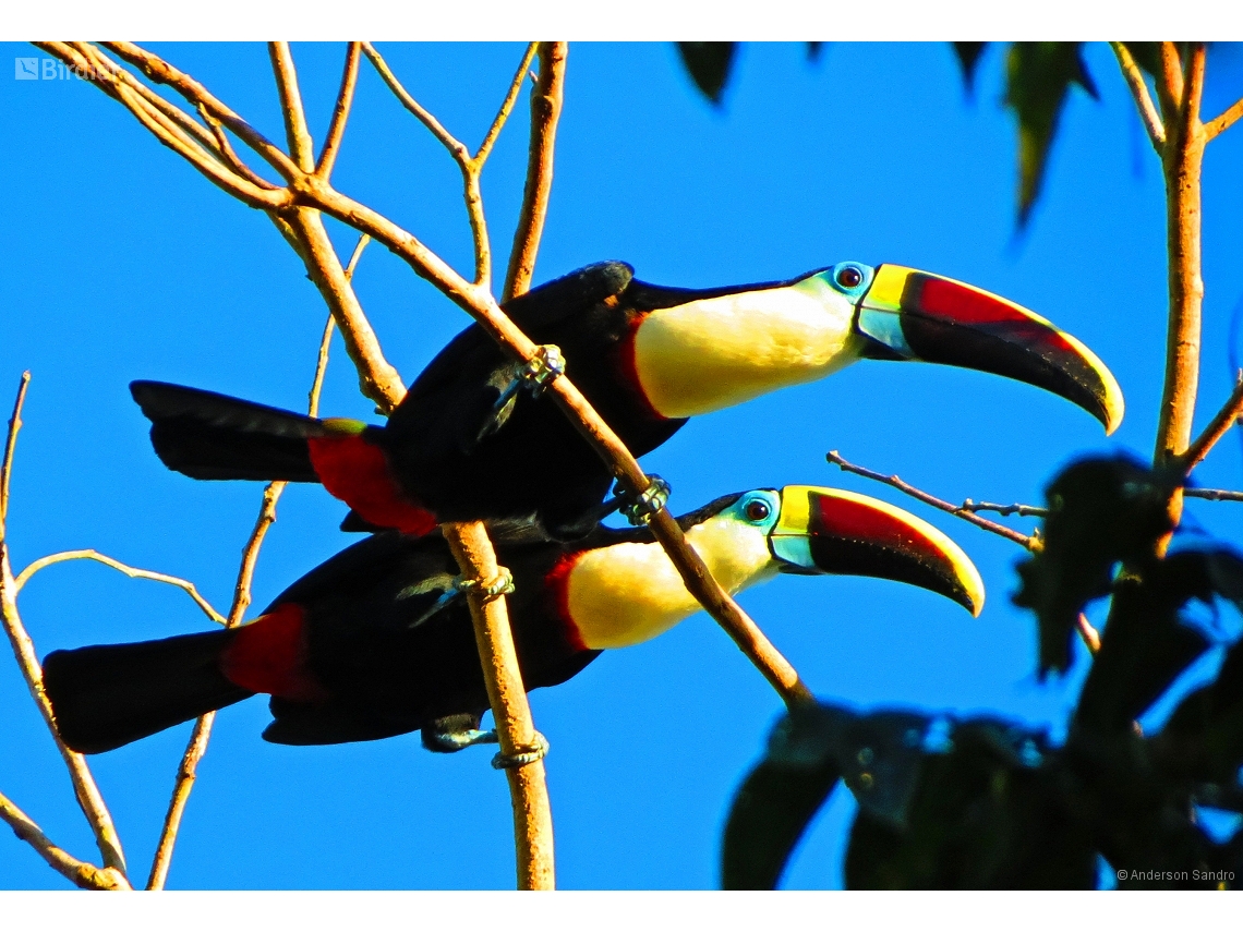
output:
POLYGON ((881 265, 858 302, 871 357, 921 359, 1038 385, 1074 401, 1112 434, 1122 390, 1083 343, 1043 317, 971 285, 881 265))

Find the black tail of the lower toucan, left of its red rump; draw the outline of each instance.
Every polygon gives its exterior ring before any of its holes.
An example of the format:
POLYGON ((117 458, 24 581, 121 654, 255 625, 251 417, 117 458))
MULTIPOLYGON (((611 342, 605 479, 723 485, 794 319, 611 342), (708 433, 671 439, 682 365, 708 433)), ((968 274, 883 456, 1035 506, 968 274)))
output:
POLYGON ((58 650, 44 660, 56 729, 73 751, 119 748, 254 693, 220 672, 237 629, 58 650))

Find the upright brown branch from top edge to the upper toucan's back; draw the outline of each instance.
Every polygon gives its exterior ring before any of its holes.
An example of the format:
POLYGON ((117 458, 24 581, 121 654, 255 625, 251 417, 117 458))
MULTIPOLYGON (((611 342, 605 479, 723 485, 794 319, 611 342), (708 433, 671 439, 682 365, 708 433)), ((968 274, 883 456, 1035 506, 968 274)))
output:
POLYGON ((531 287, 536 255, 548 215, 552 194, 552 163, 557 123, 566 88, 566 42, 539 43, 539 77, 531 92, 531 145, 527 152, 527 183, 522 191, 518 227, 513 231, 510 267, 505 273, 502 301, 522 295, 531 287))

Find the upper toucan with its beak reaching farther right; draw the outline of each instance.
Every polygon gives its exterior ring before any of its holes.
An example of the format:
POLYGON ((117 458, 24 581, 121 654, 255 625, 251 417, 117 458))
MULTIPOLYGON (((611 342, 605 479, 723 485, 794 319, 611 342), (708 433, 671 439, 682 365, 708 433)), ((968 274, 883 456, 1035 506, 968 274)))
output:
POLYGON ((1004 298, 902 266, 842 262, 792 281, 695 291, 649 285, 624 262, 603 262, 505 311, 543 344, 538 365, 516 363, 472 324, 384 426, 168 383, 134 381, 131 391, 170 468, 205 480, 322 482, 352 508, 346 529, 415 536, 443 521, 534 516, 572 539, 608 513, 609 470, 539 396, 561 370, 553 357, 635 456, 691 415, 864 358, 1027 381, 1086 409, 1106 432, 1122 418, 1117 383, 1074 337, 1004 298))

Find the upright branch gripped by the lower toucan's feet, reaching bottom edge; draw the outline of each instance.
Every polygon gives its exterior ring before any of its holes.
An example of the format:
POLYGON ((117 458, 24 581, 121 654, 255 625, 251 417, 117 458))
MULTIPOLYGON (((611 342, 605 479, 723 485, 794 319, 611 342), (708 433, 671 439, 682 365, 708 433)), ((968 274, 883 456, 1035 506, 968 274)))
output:
MULTIPOLYGON (((500 574, 496 553, 481 521, 441 524, 441 529, 462 578, 477 583, 469 598, 475 642, 484 665, 501 753, 515 757, 536 747, 538 738, 513 650, 505 596, 487 599, 481 592, 500 574)), ((506 768, 506 775, 513 798, 518 889, 552 890, 556 886, 552 806, 543 761, 506 768)))

